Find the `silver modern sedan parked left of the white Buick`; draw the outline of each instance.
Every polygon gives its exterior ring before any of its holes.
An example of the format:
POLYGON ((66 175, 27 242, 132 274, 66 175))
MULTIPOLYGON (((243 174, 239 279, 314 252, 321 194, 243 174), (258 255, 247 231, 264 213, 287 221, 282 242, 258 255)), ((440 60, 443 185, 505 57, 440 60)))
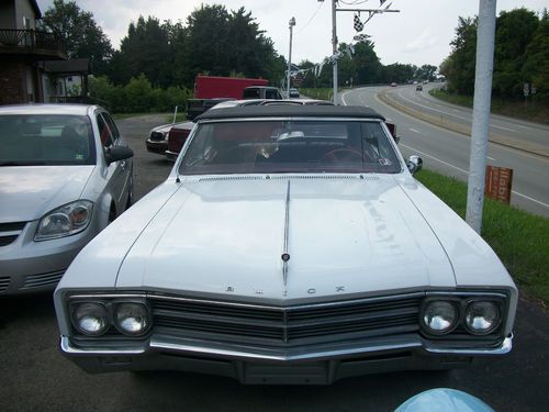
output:
POLYGON ((132 204, 132 156, 98 105, 0 107, 0 296, 55 288, 132 204))

